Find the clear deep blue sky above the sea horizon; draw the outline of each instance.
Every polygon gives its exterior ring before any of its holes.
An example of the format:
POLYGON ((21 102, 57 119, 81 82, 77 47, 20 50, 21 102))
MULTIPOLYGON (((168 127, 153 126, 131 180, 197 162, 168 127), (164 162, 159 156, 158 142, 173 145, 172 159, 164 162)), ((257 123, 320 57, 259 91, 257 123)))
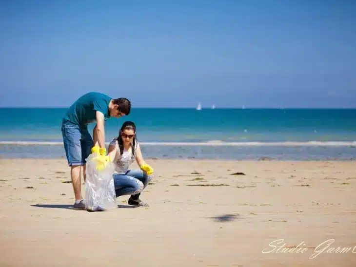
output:
POLYGON ((356 108, 353 0, 0 0, 0 106, 356 108))

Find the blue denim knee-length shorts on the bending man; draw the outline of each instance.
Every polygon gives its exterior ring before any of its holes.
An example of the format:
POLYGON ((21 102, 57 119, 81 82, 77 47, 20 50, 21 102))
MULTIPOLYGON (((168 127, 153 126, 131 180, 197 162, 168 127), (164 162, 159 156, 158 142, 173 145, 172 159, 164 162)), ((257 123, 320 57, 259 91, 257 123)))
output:
POLYGON ((88 128, 63 123, 61 131, 68 165, 84 165, 85 159, 90 155, 93 147, 93 138, 89 134, 88 128))

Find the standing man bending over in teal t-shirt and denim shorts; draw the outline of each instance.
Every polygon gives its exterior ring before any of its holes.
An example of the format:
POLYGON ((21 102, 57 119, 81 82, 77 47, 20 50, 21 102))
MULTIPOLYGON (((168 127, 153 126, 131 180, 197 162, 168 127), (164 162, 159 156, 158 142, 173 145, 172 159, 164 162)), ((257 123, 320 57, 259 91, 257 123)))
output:
POLYGON ((64 150, 71 167, 71 178, 76 201, 75 209, 85 209, 81 196, 80 169, 83 166, 84 182, 86 178, 85 159, 92 148, 106 155, 104 121, 110 117, 121 117, 130 114, 131 103, 127 98, 113 99, 97 92, 87 93, 68 109, 62 119, 61 132, 64 150), (93 138, 89 134, 88 124, 97 122, 93 138), (99 149, 98 149, 99 148, 99 149))

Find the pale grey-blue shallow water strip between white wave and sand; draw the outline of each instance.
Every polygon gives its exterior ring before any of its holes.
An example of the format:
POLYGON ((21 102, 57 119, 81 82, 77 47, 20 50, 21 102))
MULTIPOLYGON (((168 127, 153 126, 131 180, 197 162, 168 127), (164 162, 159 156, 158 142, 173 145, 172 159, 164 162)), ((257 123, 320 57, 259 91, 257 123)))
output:
MULTIPOLYGON (((145 158, 217 160, 354 160, 355 146, 165 146, 142 145, 145 158)), ((0 145, 1 158, 65 158, 62 145, 0 145)))

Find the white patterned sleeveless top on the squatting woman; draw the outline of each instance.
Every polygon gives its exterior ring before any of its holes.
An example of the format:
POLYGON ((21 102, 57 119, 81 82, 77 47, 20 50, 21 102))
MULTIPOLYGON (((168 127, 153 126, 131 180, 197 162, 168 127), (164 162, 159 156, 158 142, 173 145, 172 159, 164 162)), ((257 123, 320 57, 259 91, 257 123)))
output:
MULTIPOLYGON (((120 155, 118 140, 112 140, 110 142, 110 145, 115 146, 116 148, 116 154, 113 161, 115 163, 114 174, 125 174, 129 170, 130 165, 135 161, 135 155, 132 154, 132 147, 130 147, 128 150, 124 149, 122 155, 120 155)), ((138 142, 136 141, 135 154, 136 154, 137 147, 138 147, 138 142)))

